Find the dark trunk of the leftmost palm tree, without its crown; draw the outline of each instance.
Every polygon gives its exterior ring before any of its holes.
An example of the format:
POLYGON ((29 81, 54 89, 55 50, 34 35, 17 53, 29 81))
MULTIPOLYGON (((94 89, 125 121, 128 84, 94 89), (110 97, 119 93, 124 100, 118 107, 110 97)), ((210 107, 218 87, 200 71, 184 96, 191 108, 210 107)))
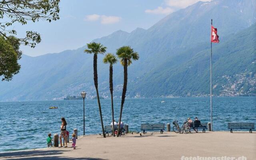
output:
POLYGON ((98 92, 97 54, 94 54, 94 56, 93 56, 93 71, 94 71, 94 85, 95 85, 96 92, 97 92, 98 106, 99 106, 99 111, 100 111, 102 134, 103 134, 103 137, 106 138, 105 131, 104 131, 104 124, 103 124, 103 120, 102 120, 100 97, 99 97, 99 92, 98 92))

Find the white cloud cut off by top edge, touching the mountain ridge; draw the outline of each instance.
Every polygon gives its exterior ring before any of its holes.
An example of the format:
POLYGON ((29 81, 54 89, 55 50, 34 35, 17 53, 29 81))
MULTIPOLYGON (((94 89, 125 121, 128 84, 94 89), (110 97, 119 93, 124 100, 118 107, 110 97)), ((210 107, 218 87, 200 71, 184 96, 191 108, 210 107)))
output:
POLYGON ((166 4, 171 7, 186 8, 198 1, 211 1, 211 0, 165 0, 166 4))

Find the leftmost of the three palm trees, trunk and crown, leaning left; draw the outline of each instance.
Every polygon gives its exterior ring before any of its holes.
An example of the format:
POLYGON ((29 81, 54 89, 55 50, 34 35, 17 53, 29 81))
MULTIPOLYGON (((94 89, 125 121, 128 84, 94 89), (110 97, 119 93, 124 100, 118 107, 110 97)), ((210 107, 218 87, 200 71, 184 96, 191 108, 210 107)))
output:
POLYGON ((88 49, 84 50, 84 52, 88 54, 94 54, 93 56, 93 73, 94 73, 94 86, 97 92, 97 98, 98 98, 98 106, 100 111, 100 121, 102 126, 102 133, 104 138, 106 138, 105 132, 104 132, 104 125, 102 120, 102 113, 101 113, 101 106, 100 106, 100 97, 98 92, 98 73, 97 73, 97 56, 98 54, 104 54, 106 52, 106 47, 104 47, 100 43, 91 42, 87 44, 88 49))

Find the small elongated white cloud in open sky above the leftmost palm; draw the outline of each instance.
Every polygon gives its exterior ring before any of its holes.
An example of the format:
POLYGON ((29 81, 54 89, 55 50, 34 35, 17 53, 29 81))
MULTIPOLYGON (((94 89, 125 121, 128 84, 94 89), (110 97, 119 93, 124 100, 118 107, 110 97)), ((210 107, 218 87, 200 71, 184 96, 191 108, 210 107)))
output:
POLYGON ((122 18, 118 16, 105 16, 98 14, 87 15, 84 20, 85 21, 97 21, 100 20, 101 24, 113 24, 119 22, 122 18))

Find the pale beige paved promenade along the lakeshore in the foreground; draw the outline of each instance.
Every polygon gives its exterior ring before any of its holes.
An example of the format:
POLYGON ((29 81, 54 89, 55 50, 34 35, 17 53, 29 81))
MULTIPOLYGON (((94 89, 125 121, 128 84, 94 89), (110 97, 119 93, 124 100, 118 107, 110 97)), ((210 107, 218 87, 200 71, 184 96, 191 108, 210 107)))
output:
MULTIPOLYGON (((71 146, 71 143, 68 146, 71 146)), ((78 139, 76 150, 41 148, 6 152, 0 153, 0 160, 181 160, 182 158, 190 160, 190 156, 196 158, 197 156, 220 158, 244 156, 246 160, 256 160, 256 133, 234 131, 234 133, 164 132, 160 134, 158 132, 144 136, 127 134, 120 138, 92 135, 78 139)))

